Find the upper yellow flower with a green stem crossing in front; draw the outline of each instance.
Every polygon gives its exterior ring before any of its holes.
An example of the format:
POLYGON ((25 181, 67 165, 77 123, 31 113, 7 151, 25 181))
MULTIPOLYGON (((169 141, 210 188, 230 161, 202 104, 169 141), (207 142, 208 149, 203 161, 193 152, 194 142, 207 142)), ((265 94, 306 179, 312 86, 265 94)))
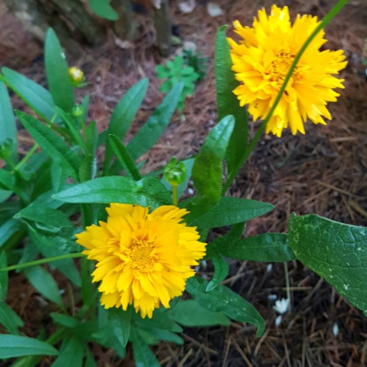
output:
MULTIPOLYGON (((288 7, 281 9, 276 5, 269 16, 264 8, 259 10, 252 28, 233 22, 235 32, 242 38, 239 44, 228 38, 232 70, 242 82, 233 93, 240 106, 249 105, 253 120, 266 117, 296 54, 319 24, 317 17, 299 14, 292 24, 288 7)), ((331 119, 327 102, 335 102, 340 95, 334 88, 344 88, 344 79, 333 74, 344 69, 347 62, 343 50, 320 51, 326 42, 324 34, 321 30, 302 54, 267 124, 267 133, 280 137, 289 124, 292 134, 297 131, 304 134, 303 122, 307 118, 323 125, 326 124, 323 117, 331 119)))

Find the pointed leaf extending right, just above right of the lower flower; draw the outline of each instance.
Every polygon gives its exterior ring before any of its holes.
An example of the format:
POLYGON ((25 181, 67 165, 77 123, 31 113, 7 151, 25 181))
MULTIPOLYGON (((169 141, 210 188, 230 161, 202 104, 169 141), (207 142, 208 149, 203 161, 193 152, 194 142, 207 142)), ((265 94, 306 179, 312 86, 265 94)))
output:
POLYGON ((273 210, 273 208, 274 206, 271 204, 256 200, 224 196, 216 206, 195 220, 195 226, 214 228, 247 222, 273 210))

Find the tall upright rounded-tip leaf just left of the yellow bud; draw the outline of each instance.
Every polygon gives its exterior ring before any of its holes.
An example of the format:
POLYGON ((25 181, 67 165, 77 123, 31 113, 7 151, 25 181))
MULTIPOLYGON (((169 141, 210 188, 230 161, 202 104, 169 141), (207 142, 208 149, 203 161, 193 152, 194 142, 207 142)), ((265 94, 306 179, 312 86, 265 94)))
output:
POLYGON ((64 111, 71 112, 75 105, 74 91, 70 83, 68 64, 60 42, 49 28, 45 41, 45 66, 48 88, 55 105, 64 111))

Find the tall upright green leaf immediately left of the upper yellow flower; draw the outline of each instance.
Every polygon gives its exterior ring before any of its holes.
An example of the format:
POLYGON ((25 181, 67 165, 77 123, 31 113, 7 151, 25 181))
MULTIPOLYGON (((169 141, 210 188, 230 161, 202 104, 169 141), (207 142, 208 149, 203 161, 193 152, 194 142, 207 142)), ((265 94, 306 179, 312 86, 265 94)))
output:
POLYGON ((240 107, 233 90, 239 85, 231 70, 229 45, 226 38, 227 25, 221 26, 215 39, 215 80, 217 89, 218 119, 226 115, 233 115, 235 126, 229 141, 226 161, 228 173, 230 174, 240 161, 247 146, 247 119, 245 108, 240 107))

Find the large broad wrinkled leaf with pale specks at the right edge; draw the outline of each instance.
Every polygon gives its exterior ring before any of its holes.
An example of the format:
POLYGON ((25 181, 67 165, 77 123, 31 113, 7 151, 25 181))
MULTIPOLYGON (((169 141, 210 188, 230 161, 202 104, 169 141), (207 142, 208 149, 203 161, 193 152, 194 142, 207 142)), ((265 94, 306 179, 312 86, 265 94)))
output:
POLYGON ((367 228, 293 214, 288 231, 296 258, 367 315, 367 228))

